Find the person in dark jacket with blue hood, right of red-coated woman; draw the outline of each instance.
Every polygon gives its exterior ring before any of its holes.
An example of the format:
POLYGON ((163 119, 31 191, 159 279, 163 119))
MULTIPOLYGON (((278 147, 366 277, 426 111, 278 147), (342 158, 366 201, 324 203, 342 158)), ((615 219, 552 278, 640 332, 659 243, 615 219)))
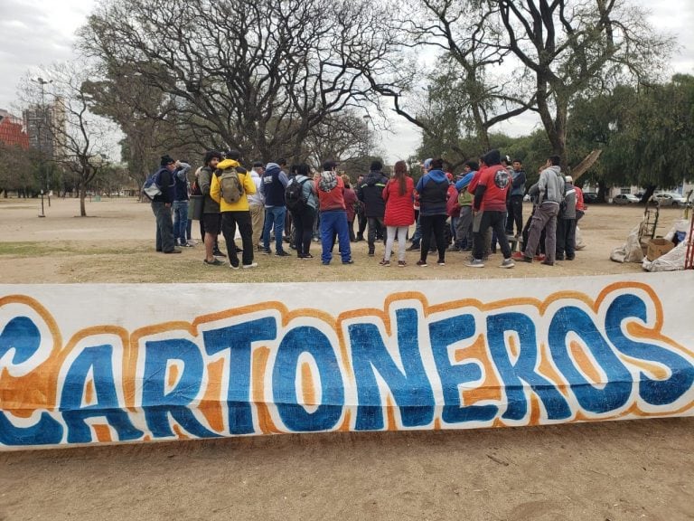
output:
POLYGON ((448 177, 443 170, 444 160, 436 158, 431 162, 431 169, 419 179, 417 194, 419 194, 419 224, 422 231, 421 249, 417 266, 427 266, 427 254, 431 243, 431 234, 436 239, 439 266, 445 266, 445 202, 448 196, 448 177))

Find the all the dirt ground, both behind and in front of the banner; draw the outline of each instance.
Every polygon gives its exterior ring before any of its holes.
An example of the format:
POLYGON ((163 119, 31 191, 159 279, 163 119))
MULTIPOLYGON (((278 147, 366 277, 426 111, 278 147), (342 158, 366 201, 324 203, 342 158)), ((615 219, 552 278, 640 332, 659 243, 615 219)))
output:
MULTIPOLYGON (((519 264, 323 267, 258 256, 258 270, 205 268, 202 245, 154 251, 154 217, 133 200, 0 200, 0 283, 157 280, 472 279, 639 272, 609 252, 641 207, 592 206, 586 249, 553 268, 519 264), (308 268, 308 269, 306 269, 308 268)), ((529 210, 529 209, 527 209, 529 210)), ((661 212, 659 234, 680 216, 661 212)), ((193 237, 199 238, 196 227, 193 237)), ((319 251, 314 245, 314 254, 319 251)), ((377 252, 378 253, 378 252, 377 252)), ((0 521, 70 519, 694 519, 694 418, 481 431, 331 433, 0 453, 0 521)))

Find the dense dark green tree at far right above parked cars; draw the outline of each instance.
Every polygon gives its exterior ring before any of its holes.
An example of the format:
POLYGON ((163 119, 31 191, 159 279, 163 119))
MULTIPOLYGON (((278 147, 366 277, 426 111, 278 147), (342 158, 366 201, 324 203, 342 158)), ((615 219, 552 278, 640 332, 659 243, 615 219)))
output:
POLYGON ((657 188, 694 178, 694 77, 676 75, 662 84, 619 86, 612 93, 574 103, 572 148, 601 147, 592 172, 601 186, 638 185, 642 201, 657 188))

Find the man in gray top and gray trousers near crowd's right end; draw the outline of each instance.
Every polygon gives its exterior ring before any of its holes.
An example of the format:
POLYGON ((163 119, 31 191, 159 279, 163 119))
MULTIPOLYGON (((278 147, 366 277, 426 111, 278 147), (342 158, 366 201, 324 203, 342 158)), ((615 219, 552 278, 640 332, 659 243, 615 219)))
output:
POLYGON ((528 244, 523 253, 523 261, 532 262, 538 250, 539 235, 545 230, 545 260, 542 264, 554 266, 557 250, 557 215, 559 204, 564 200, 565 182, 561 175, 561 159, 551 156, 545 169, 539 174, 539 181, 530 187, 530 196, 537 195, 539 202, 532 215, 528 244))

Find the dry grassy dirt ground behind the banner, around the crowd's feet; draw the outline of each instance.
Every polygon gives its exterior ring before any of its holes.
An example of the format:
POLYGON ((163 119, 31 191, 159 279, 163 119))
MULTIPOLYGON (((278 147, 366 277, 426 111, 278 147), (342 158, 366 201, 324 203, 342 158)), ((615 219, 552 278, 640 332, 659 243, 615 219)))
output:
MULTIPOLYGON (((257 269, 230 270, 228 264, 204 265, 202 244, 183 249, 180 255, 155 252, 154 217, 147 204, 131 200, 90 204, 89 214, 98 219, 75 218, 76 205, 70 200, 54 201, 48 217, 38 219, 31 204, 0 202, 0 209, 4 210, 0 236, 10 241, 0 242, 0 282, 352 282, 542 278, 641 271, 639 265, 609 261, 610 251, 621 245, 639 223, 640 207, 591 207, 581 222, 586 249, 577 253, 575 261, 558 262, 552 268, 539 263, 518 263, 513 270, 502 270, 498 268, 502 256, 496 254, 483 270, 475 270, 464 266, 468 254, 455 252, 446 254, 445 267, 436 266, 435 253, 429 256, 432 263, 427 268, 418 268, 415 263, 419 254, 415 251, 408 251, 407 268, 382 268, 378 263, 382 245, 377 245, 376 257, 370 258, 365 242, 352 244, 353 265, 342 265, 339 255, 335 255, 330 266, 323 266, 320 244, 314 242, 315 258, 311 261, 301 261, 294 255, 279 258, 257 253, 257 269)), ((526 213, 529 211, 526 208, 526 213)), ((667 232, 679 216, 677 210, 661 212, 659 233, 667 232)), ((193 236, 199 236, 197 223, 193 225, 193 236)), ((223 242, 221 247, 224 248, 223 242)))

